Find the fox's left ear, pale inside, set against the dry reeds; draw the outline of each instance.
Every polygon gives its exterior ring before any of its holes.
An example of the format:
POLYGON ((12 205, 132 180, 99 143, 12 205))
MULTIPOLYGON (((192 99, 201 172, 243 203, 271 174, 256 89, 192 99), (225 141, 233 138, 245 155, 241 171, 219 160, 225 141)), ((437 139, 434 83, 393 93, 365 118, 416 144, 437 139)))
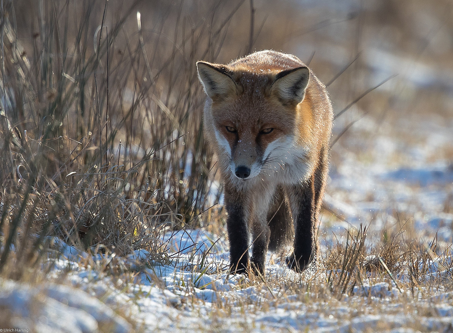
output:
POLYGON ((204 92, 212 99, 236 91, 236 83, 223 66, 198 61, 197 68, 204 92))

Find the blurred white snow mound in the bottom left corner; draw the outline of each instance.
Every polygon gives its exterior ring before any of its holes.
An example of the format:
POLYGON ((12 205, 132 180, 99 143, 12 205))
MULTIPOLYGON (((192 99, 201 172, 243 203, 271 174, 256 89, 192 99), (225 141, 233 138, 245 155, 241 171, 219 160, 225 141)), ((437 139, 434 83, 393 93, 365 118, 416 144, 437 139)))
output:
POLYGON ((131 331, 129 323, 82 290, 63 285, 43 289, 12 280, 0 280, 0 286, 0 308, 8 309, 12 327, 33 327, 37 332, 88 333, 97 332, 102 324, 110 325, 111 332, 131 331))

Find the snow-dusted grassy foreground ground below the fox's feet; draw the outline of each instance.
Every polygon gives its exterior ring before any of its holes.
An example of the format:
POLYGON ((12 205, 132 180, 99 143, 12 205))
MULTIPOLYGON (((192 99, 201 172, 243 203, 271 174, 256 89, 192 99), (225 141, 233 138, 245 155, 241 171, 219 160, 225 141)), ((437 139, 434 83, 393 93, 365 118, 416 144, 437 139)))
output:
MULTIPOLYGON (((222 244, 212 247, 215 236, 206 232, 180 231, 167 241, 175 250, 189 244, 198 250, 179 253, 178 260, 169 265, 152 261, 146 264, 149 253, 144 250, 120 261, 109 256, 90 257, 92 264, 87 265, 87 253, 58 242, 64 255, 55 262, 53 274, 64 275, 64 281, 42 285, 0 281, 0 309, 7 311, 8 318, 3 329, 442 332, 453 323, 453 292, 442 285, 413 290, 407 288, 404 276, 397 280, 399 286, 390 279, 368 278, 353 287, 352 295, 344 294, 338 300, 330 294, 325 275, 308 282, 271 255, 268 283, 250 283, 240 275, 214 273, 227 265, 228 253, 222 244), (205 257, 204 250, 209 248, 212 252, 205 257), (100 267, 113 263, 121 263, 136 274, 123 281, 100 273, 100 267), (288 281, 294 285, 288 286, 288 281), (313 290, 307 289, 308 284, 313 290)), ((439 266, 434 261, 430 265, 435 276, 439 266)), ((446 280, 452 278, 451 272, 441 273, 446 280)))

